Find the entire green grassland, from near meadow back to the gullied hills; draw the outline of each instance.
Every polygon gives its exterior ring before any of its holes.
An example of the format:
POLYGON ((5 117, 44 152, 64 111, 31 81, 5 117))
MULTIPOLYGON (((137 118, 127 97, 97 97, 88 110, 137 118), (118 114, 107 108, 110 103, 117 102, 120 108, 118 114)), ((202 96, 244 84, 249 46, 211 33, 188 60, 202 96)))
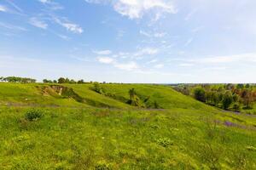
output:
POLYGON ((166 86, 101 86, 0 83, 1 169, 256 169, 255 116, 166 86), (128 105, 131 88, 160 109, 128 105))

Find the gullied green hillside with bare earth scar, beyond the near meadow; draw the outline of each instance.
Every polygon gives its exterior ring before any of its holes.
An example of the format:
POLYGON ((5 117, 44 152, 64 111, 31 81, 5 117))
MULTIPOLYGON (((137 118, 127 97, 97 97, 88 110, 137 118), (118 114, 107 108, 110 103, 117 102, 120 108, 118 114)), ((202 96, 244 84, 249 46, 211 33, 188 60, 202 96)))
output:
POLYGON ((170 87, 143 84, 102 84, 107 95, 97 94, 91 84, 13 84, 0 83, 0 103, 30 105, 96 106, 109 108, 131 108, 127 104, 129 90, 135 88, 148 103, 157 102, 162 109, 212 108, 201 102, 179 94, 170 87), (60 94, 60 88, 63 90, 60 94), (66 89, 68 88, 68 89, 66 89), (66 92, 64 91, 66 90, 66 92), (70 90, 70 91, 68 91, 70 90), (79 99, 78 99, 79 98, 79 99))

